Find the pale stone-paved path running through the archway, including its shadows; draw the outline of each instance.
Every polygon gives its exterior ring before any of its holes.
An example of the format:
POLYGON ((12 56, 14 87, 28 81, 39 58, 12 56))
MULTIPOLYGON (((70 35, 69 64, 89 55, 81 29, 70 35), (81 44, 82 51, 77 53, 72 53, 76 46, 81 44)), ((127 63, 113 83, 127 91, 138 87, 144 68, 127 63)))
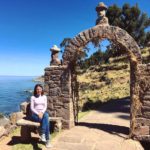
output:
POLYGON ((128 138, 129 100, 117 100, 91 111, 79 125, 64 131, 51 150, 143 150, 128 138))

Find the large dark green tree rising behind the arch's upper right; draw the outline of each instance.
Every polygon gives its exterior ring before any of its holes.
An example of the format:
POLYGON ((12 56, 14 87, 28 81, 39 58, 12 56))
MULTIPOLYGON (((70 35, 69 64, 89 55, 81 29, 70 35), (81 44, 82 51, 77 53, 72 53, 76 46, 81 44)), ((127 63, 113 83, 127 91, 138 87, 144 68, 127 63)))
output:
POLYGON ((114 4, 108 8, 106 16, 111 25, 126 30, 140 47, 147 46, 147 41, 150 40, 150 32, 146 29, 150 27, 150 18, 146 13, 141 12, 138 4, 131 7, 125 3, 122 8, 114 4))

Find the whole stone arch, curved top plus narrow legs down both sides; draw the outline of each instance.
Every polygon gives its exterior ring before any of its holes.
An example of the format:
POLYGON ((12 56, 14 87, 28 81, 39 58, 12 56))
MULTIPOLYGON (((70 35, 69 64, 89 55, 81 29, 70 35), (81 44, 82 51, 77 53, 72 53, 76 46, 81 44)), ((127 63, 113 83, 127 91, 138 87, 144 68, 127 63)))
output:
MULTIPOLYGON (((76 84, 76 73, 74 72, 74 64, 81 48, 86 46, 92 39, 99 38, 100 40, 108 39, 114 44, 123 47, 126 50, 130 61, 130 96, 131 96, 131 119, 130 119, 130 136, 134 135, 135 118, 140 109, 141 102, 139 100, 139 90, 137 84, 137 66, 142 64, 142 56, 140 48, 135 40, 123 29, 116 26, 97 25, 91 29, 80 32, 75 36, 70 43, 65 47, 63 53, 63 65, 68 66, 71 72, 71 88, 76 84)), ((78 88, 78 87, 76 87, 78 88)), ((74 95, 72 88, 72 95, 74 95)), ((76 103, 76 98, 71 96, 72 102, 76 103)), ((73 104, 74 105, 74 104, 73 104)), ((73 109, 73 108, 72 108, 73 109)), ((76 108, 73 109, 74 111, 76 108)), ((73 112, 73 111, 72 111, 73 112)), ((77 111, 74 112, 74 120, 76 120, 77 111)))

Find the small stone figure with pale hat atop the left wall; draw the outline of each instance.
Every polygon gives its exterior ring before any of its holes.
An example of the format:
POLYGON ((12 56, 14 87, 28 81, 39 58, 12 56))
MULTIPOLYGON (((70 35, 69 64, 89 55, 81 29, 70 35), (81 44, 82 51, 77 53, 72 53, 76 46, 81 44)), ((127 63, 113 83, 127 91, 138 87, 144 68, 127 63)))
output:
POLYGON ((51 62, 50 65, 61 65, 61 61, 58 58, 58 54, 60 52, 60 48, 54 45, 51 49, 51 62))

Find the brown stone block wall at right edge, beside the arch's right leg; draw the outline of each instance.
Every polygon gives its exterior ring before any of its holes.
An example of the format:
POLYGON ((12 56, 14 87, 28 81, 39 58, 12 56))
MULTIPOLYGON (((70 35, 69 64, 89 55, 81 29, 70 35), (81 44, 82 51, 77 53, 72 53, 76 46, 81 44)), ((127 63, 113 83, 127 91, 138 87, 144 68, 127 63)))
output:
POLYGON ((150 141, 150 64, 138 65, 136 76, 140 105, 135 118, 134 138, 150 141))

